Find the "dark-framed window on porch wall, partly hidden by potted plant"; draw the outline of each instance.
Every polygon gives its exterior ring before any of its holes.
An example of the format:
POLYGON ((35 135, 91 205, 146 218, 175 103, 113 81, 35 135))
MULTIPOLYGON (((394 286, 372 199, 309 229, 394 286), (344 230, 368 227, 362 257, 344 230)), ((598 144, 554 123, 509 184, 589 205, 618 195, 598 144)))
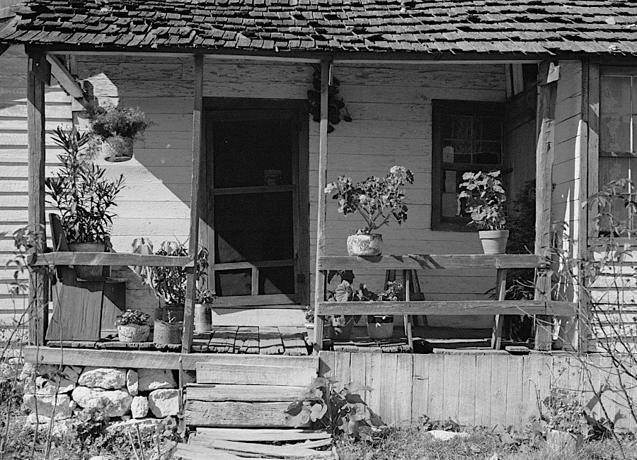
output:
POLYGON ((432 101, 432 230, 475 230, 459 185, 466 171, 502 169, 503 113, 497 102, 432 101))

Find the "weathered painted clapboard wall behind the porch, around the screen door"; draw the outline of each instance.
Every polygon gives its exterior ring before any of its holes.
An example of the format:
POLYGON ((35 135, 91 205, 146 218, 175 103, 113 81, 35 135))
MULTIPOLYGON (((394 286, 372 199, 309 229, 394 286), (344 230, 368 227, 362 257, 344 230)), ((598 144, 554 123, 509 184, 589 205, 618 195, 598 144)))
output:
MULTIPOLYGON (((134 160, 108 174, 123 172, 119 216, 114 222, 117 251, 129 250, 134 236, 150 236, 156 243, 175 235, 188 235, 190 164, 192 148, 193 60, 151 57, 78 57, 79 77, 89 81, 102 102, 138 106, 154 125, 135 146, 134 160), (144 203, 140 203, 144 201, 144 203), (142 209, 144 208, 144 209, 142 209), (137 209, 137 211, 136 211, 137 209)), ((313 69, 309 64, 205 60, 205 96, 217 98, 306 99, 313 69)), ((358 65, 339 64, 334 75, 353 121, 341 122, 329 136, 328 180, 347 173, 354 179, 384 175, 393 165, 415 172, 408 187, 410 215, 405 224, 383 230, 385 252, 481 252, 476 235, 432 232, 431 213, 431 99, 493 100, 505 98, 503 66, 497 64, 358 65)), ((86 122, 81 122, 86 126, 86 122)), ((311 261, 316 252, 316 190, 319 124, 309 124, 309 179, 311 261)), ((328 203, 328 254, 343 254, 347 235, 361 226, 357 218, 343 218, 328 203)), ((432 299, 454 293, 458 298, 481 297, 493 284, 495 273, 447 273, 447 283, 435 276, 421 287, 432 299), (457 276, 478 275, 483 283, 456 289, 457 276), (454 281, 452 283, 452 281, 454 281), (455 292, 455 291, 461 292, 455 292)), ((381 287, 384 273, 357 273, 357 282, 381 287)), ((314 273, 310 279, 314 281, 314 273)), ((312 289, 314 286, 312 286, 312 289)), ((475 324, 475 323, 474 323, 475 324)), ((483 322, 488 326, 490 319, 483 322)))

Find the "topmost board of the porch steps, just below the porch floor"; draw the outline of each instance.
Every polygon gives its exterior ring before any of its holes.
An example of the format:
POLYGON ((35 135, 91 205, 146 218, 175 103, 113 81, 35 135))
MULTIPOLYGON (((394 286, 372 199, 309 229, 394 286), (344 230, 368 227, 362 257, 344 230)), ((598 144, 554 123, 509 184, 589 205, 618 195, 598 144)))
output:
POLYGON ((305 387, 316 377, 316 369, 309 367, 285 367, 218 364, 200 362, 196 365, 197 383, 236 385, 290 385, 305 387))

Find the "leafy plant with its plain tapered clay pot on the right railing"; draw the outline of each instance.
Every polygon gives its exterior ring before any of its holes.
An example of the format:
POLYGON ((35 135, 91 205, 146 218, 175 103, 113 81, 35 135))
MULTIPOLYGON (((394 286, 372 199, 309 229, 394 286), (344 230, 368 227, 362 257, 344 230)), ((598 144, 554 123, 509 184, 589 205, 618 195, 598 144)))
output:
POLYGON ((509 230, 505 208, 507 199, 500 182, 500 171, 465 172, 459 199, 465 199, 465 211, 471 216, 468 225, 478 227, 485 254, 505 254, 509 230))

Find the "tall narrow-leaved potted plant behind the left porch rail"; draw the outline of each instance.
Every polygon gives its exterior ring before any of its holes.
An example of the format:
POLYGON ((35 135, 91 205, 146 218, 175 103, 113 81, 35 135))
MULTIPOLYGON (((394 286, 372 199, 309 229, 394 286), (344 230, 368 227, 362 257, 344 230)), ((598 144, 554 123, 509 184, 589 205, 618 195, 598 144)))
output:
MULTIPOLYGON (((104 177, 103 168, 86 160, 82 151, 89 138, 86 134, 57 128, 53 141, 64 149, 57 155, 62 166, 45 181, 47 195, 59 210, 64 236, 70 251, 105 252, 117 206, 115 197, 124 187, 124 176, 104 177)), ((76 274, 85 280, 103 277, 102 266, 75 266, 76 274)))

